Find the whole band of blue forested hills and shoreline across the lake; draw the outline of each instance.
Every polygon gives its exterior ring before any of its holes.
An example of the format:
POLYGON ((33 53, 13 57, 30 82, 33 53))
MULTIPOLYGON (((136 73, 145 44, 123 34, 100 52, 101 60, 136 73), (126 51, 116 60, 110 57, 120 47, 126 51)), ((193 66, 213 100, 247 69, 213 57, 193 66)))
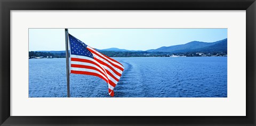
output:
MULTIPOLYGON (((160 47, 147 51, 126 50, 118 48, 96 49, 109 57, 165 57, 171 55, 179 56, 225 56, 227 55, 227 39, 216 42, 191 41, 170 47, 160 47), (202 55, 203 54, 203 55, 202 55)), ((30 51, 29 57, 65 58, 65 51, 30 51)))

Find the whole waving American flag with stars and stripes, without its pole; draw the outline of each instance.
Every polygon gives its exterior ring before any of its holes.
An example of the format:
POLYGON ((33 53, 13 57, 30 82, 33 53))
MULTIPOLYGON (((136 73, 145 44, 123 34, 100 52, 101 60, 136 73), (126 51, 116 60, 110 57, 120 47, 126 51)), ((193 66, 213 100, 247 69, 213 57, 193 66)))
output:
POLYGON ((118 83, 124 66, 82 41, 68 34, 70 44, 70 73, 100 77, 108 83, 108 93, 114 96, 113 89, 118 83))

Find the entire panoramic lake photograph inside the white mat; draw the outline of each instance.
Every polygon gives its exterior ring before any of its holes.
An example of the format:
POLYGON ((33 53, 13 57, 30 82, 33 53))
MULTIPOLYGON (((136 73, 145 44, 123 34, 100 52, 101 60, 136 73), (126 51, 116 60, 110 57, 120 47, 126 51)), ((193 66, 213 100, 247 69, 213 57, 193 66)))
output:
POLYGON ((227 32, 29 28, 28 96, 228 97, 227 32))

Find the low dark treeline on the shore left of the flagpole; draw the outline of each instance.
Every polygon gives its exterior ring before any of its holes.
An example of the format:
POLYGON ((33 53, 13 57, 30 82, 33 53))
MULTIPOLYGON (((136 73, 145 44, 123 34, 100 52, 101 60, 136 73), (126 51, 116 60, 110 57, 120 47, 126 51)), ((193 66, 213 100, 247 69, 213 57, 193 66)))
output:
POLYGON ((28 52, 29 57, 44 57, 46 58, 51 57, 52 58, 65 58, 66 53, 51 53, 51 52, 39 52, 39 51, 29 51, 28 52))

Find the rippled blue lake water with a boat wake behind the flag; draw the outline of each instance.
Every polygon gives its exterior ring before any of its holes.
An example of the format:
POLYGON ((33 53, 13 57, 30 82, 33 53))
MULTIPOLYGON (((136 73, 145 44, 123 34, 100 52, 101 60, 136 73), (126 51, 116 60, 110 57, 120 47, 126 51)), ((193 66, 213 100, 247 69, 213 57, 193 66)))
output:
MULTIPOLYGON (((227 57, 114 58, 124 65, 114 97, 227 97, 227 57)), ((110 97, 95 76, 70 75, 71 97, 110 97)), ((66 59, 29 59, 29 97, 67 97, 66 59)))

